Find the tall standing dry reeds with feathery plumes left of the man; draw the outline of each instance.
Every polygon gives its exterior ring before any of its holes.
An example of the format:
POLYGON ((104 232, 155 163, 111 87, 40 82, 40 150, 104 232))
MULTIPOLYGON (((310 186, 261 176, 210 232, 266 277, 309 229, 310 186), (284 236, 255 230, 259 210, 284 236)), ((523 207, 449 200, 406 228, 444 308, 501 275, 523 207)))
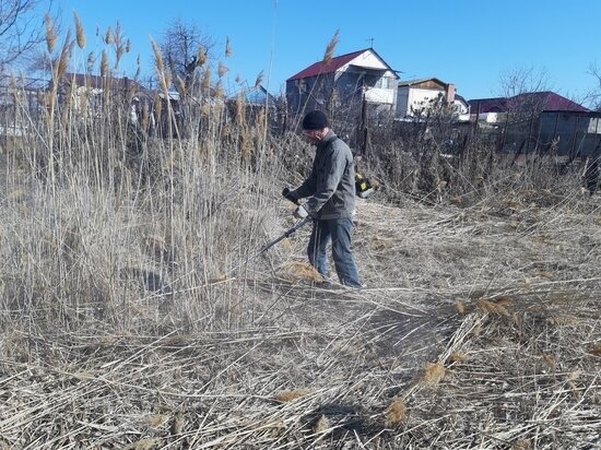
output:
MULTIPOLYGON (((47 25, 50 43, 56 36, 47 25)), ((76 15, 75 25, 83 46, 76 15)), ((118 64, 127 40, 119 26, 106 36, 118 64)), ((28 132, 8 156, 3 186, 4 324, 144 333, 247 323, 252 305, 245 304, 241 284, 213 281, 238 275, 229 270, 281 227, 274 204, 281 166, 264 120, 226 120, 219 91, 216 102, 207 97, 198 107, 208 70, 195 75, 190 86, 200 94, 182 98, 188 114, 176 118, 161 100, 170 74, 154 46, 162 81, 156 98, 167 127, 163 135, 149 135, 131 122, 137 93, 116 85, 106 49, 97 69, 103 94, 64 83, 73 44, 68 34, 56 50, 44 120, 28 117, 26 104, 16 111, 28 132)), ((140 116, 142 121, 144 111, 140 116)), ((267 267, 259 259, 245 269, 267 267)))

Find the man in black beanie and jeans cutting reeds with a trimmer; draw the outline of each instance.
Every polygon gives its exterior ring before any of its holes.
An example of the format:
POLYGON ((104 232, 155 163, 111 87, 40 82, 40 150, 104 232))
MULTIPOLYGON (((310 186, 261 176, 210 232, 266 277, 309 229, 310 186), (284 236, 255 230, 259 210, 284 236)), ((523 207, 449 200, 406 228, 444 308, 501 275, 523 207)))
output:
POLYGON ((297 218, 310 215, 314 226, 307 256, 323 276, 328 276, 326 248, 331 241, 332 259, 340 283, 363 287, 351 251, 352 214, 355 209, 355 168, 353 154, 328 125, 326 115, 314 110, 303 119, 303 134, 317 147, 308 178, 296 189, 285 188, 283 196, 297 202, 308 198, 294 212, 297 218))

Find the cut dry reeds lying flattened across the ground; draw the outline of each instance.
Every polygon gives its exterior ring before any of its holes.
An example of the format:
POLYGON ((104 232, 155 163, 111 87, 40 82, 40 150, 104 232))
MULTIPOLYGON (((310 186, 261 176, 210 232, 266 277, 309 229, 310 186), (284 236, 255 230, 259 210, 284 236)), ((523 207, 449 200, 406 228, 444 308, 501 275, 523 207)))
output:
MULTIPOLYGON (((130 332, 4 306, 4 447, 598 446, 599 201, 377 200, 356 216, 367 289, 314 286, 303 229, 202 296, 131 294, 130 332)), ((292 224, 273 204, 264 240, 292 224)))

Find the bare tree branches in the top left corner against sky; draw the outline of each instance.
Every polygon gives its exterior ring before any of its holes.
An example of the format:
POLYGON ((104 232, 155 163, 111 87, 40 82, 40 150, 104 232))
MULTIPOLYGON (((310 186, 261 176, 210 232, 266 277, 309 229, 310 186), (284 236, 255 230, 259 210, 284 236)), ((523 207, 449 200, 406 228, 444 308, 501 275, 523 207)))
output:
POLYGON ((16 62, 45 39, 47 0, 0 0, 0 69, 16 62))

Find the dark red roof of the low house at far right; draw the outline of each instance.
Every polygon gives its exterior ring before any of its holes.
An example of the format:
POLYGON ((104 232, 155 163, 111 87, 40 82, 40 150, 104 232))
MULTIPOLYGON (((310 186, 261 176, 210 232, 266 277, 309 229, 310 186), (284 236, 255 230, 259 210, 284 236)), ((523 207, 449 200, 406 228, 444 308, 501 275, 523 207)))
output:
POLYGON ((589 112, 589 109, 551 91, 530 92, 511 97, 474 98, 468 102, 472 119, 495 122, 507 114, 527 119, 542 111, 589 112))

